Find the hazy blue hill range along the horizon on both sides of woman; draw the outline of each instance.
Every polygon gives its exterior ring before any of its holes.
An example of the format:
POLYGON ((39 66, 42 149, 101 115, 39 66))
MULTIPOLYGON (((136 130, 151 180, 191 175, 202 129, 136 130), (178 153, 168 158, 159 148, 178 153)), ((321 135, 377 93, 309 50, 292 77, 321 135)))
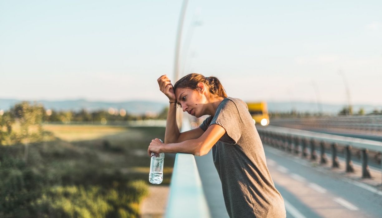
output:
MULTIPOLYGON (((21 100, 16 99, 0 99, 0 109, 8 110, 21 100)), ((40 100, 46 109, 54 110, 81 110, 83 108, 94 110, 107 110, 108 108, 125 109, 131 114, 143 114, 146 112, 159 113, 164 107, 167 107, 167 102, 152 102, 152 101, 126 101, 126 102, 91 102, 84 99, 65 100, 65 101, 45 101, 40 100)), ((337 114, 343 108, 343 104, 322 104, 324 113, 337 114)), ((366 113, 373 110, 382 110, 382 105, 353 105, 354 113, 357 113, 359 108, 364 108, 366 113)), ((317 103, 314 102, 268 102, 268 110, 271 112, 287 112, 293 109, 300 112, 315 113, 319 109, 317 103)))

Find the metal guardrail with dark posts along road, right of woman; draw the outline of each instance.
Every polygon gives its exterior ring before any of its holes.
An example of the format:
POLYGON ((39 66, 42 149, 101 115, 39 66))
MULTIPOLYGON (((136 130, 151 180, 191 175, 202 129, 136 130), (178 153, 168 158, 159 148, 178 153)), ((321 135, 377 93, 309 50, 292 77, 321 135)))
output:
POLYGON ((327 163, 325 147, 327 147, 326 145, 330 145, 333 168, 339 167, 337 147, 338 145, 342 145, 345 148, 346 172, 354 172, 351 162, 351 149, 353 147, 359 149, 361 150, 362 178, 371 178, 369 166, 367 165, 368 151, 373 150, 379 152, 379 154, 382 152, 382 142, 373 140, 335 136, 276 126, 258 127, 257 131, 259 132, 262 142, 290 153, 301 153, 302 158, 317 160, 316 146, 319 145, 320 163, 327 163), (308 153, 308 146, 310 147, 310 155, 308 153))

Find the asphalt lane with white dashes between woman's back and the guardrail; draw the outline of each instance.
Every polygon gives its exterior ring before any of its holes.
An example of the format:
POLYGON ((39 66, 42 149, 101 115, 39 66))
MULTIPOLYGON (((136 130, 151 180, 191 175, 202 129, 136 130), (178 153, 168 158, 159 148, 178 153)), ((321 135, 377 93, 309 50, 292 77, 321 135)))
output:
POLYGON ((341 174, 312 167, 308 160, 267 145, 264 150, 275 186, 287 202, 288 217, 382 216, 382 191, 371 192, 341 174))

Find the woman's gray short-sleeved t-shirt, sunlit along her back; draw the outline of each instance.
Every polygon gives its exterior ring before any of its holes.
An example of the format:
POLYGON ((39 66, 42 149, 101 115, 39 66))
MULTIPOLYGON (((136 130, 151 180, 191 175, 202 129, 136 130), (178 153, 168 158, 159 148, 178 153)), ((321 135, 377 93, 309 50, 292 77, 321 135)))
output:
POLYGON ((215 116, 199 126, 204 131, 218 124, 226 133, 212 147, 214 164, 222 181, 228 215, 285 218, 284 200, 265 163, 264 149, 245 102, 225 98, 215 116))

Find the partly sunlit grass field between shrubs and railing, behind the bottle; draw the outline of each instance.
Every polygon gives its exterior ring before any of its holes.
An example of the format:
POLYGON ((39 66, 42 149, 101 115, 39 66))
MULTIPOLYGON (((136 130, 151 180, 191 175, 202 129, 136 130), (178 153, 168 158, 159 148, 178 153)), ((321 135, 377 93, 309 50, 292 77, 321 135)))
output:
MULTIPOLYGON (((152 139, 163 139, 165 131, 160 127, 105 125, 45 125, 44 129, 75 147, 94 151, 105 166, 144 181, 148 181, 150 171, 147 147, 152 139)), ((163 185, 170 183, 174 158, 165 156, 163 185)))

